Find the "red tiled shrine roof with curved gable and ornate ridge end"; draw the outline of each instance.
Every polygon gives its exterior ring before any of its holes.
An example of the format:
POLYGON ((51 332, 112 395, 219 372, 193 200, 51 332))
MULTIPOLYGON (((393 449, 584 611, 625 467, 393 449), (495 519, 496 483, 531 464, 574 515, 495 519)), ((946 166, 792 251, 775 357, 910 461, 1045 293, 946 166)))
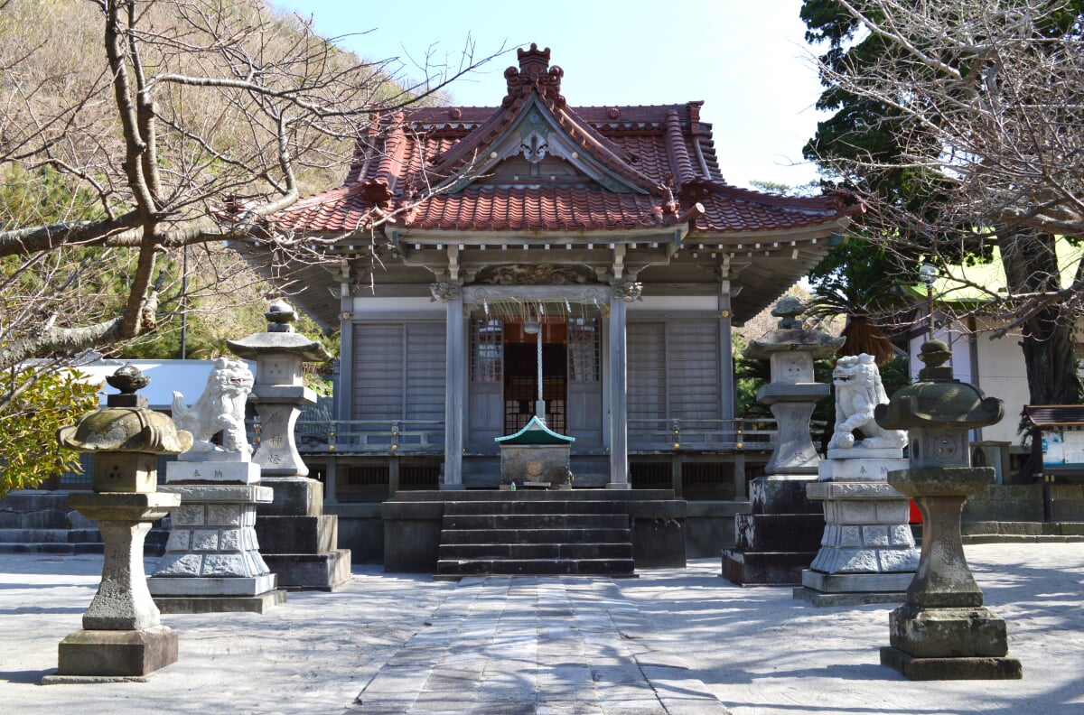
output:
POLYGON ((420 107, 385 118, 383 131, 359 141, 344 186, 298 202, 275 214, 274 224, 336 233, 363 226, 374 211, 398 211, 396 225, 406 232, 611 231, 673 224, 699 203, 705 212, 691 229, 725 234, 816 226, 859 210, 836 196, 791 198, 730 186, 711 127, 700 121, 700 102, 573 109, 560 95, 564 70, 549 61, 550 51, 534 44, 519 50, 520 66, 505 72, 499 107, 420 107), (449 191, 533 104, 627 193, 585 176, 468 178, 449 191), (438 191, 430 195, 433 187, 438 191))

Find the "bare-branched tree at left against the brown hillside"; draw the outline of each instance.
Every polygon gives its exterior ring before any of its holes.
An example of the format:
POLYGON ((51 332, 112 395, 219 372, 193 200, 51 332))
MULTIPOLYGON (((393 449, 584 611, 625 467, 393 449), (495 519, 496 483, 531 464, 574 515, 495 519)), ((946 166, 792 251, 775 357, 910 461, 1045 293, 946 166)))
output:
POLYGON ((468 39, 404 89, 261 0, 4 0, 0 369, 152 330, 185 246, 324 260, 318 239, 254 226, 307 180, 335 185, 376 113, 487 58, 468 39))

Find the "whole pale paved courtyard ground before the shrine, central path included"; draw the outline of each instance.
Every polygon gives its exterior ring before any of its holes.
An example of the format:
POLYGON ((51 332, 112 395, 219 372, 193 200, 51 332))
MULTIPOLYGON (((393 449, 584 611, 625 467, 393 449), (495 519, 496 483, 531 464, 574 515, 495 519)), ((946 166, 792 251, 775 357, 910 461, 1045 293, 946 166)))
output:
POLYGON ((40 686, 101 557, 0 555, 0 713, 1084 712, 1084 545, 965 550, 1022 680, 904 680, 879 664, 890 606, 813 608, 698 559, 637 578, 457 584, 356 564, 343 588, 263 615, 164 615, 180 658, 145 681, 40 686))

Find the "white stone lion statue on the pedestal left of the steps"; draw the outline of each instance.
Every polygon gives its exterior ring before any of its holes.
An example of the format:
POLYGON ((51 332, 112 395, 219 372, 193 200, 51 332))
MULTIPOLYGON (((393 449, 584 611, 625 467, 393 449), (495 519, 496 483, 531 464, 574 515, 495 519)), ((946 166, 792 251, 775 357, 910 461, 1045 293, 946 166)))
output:
POLYGON ((207 377, 207 387, 191 407, 173 392, 173 421, 192 432, 192 452, 237 452, 248 460, 253 448, 245 437, 245 403, 253 390, 253 374, 241 360, 219 358, 207 377), (222 446, 211 443, 222 432, 222 446))

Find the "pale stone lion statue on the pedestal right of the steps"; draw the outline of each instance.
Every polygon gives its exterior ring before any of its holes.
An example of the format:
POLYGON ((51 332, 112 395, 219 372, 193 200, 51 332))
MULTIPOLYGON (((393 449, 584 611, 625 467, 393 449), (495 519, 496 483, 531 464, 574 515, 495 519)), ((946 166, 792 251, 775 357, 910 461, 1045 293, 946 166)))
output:
POLYGON ((906 432, 885 429, 874 419, 874 410, 888 403, 888 394, 873 355, 840 358, 831 372, 831 384, 836 387, 836 430, 829 450, 902 448, 907 443, 906 432), (855 443, 854 430, 865 439, 855 443))

